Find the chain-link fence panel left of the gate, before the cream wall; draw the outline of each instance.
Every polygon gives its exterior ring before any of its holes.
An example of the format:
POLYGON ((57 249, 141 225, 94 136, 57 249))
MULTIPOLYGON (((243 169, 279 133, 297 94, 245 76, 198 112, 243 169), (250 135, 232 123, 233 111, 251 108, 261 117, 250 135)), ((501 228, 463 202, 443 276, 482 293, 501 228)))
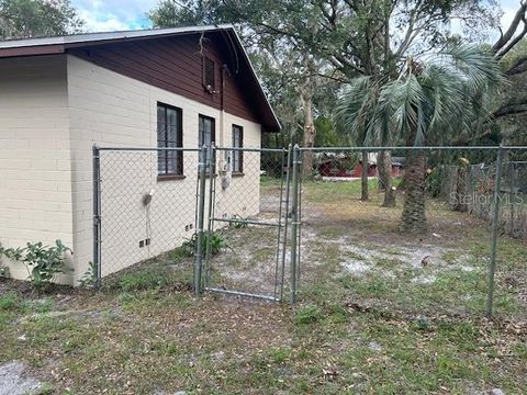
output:
POLYGON ((94 261, 100 278, 192 239, 198 149, 99 148, 96 159, 94 261))

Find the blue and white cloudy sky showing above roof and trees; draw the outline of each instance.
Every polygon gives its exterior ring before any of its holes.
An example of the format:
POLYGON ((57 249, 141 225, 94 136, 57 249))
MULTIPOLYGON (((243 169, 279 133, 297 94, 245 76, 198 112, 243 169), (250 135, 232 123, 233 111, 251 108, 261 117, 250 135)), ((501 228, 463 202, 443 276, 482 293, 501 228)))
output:
MULTIPOLYGON (((500 1, 503 9, 502 26, 508 26, 520 0, 500 1)), ((146 12, 155 8, 158 0, 72 0, 79 15, 90 32, 109 32, 150 27, 146 12)))

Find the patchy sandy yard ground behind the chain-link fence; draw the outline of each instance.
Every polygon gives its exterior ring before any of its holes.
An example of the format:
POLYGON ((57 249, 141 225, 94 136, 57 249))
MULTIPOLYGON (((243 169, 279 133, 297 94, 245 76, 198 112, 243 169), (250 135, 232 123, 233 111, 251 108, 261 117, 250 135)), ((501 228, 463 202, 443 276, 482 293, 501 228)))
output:
MULTIPOLYGON (((470 214, 452 212, 440 201, 429 201, 429 232, 404 235, 399 232, 404 196, 399 196, 395 208, 381 207, 382 195, 377 192, 370 202, 358 201, 358 181, 304 184, 300 294, 309 293, 321 279, 347 279, 358 289, 366 287, 367 302, 380 307, 389 297, 391 308, 415 314, 426 307, 426 313, 481 316, 487 287, 490 225, 470 214), (385 290, 368 292, 375 282, 385 290), (375 295, 379 301, 372 297, 375 295)), ((278 222, 278 191, 276 184, 264 190, 268 210, 260 218, 278 222)), ((282 284, 277 229, 250 226, 224 229, 222 234, 228 248, 211 261, 213 285, 274 295, 282 284)), ((519 252, 525 247, 520 241, 500 238, 495 301, 498 315, 526 316, 526 261, 519 252)), ((284 295, 289 290, 289 253, 288 248, 284 295)))

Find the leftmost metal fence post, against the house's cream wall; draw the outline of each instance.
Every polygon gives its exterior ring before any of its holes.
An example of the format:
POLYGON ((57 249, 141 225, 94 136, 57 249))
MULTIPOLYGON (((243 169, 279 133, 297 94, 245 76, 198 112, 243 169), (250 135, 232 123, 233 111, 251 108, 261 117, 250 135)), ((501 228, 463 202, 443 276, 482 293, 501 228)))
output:
POLYGON ((101 156, 97 145, 92 148, 93 161, 93 271, 94 287, 101 285, 101 156))

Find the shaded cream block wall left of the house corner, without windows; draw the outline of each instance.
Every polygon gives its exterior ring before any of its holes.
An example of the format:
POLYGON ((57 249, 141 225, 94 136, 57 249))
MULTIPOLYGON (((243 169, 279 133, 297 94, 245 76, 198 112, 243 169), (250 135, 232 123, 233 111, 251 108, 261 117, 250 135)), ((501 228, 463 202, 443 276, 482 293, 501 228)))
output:
MULTIPOLYGON (((66 58, 0 60, 0 244, 74 244, 66 58)), ((19 279, 21 263, 4 262, 19 279)), ((68 276, 61 279, 70 282, 68 276)))

